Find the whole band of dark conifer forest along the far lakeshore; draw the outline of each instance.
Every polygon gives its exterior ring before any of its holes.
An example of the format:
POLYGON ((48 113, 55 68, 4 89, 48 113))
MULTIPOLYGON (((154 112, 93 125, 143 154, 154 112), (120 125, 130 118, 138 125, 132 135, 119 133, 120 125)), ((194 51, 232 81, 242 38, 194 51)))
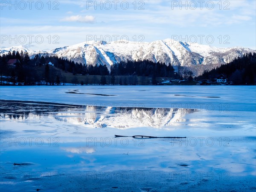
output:
MULTIPOLYGON (((13 51, 0 55, 1 84, 5 81, 3 84, 54 85, 69 81, 72 84, 147 85, 158 84, 157 79, 160 79, 160 77, 192 79, 192 72, 185 72, 183 70, 182 73, 178 74, 170 64, 154 63, 148 60, 121 61, 111 65, 109 71, 106 65, 85 65, 47 54, 35 55, 29 58, 27 52, 13 51), (8 64, 9 59, 18 59, 20 62, 11 66, 8 64), (49 62, 54 67, 49 66, 49 62), (74 75, 72 80, 67 79, 65 72, 74 75)), ((227 76, 228 80, 233 81, 234 84, 255 84, 256 53, 246 54, 229 64, 205 71, 203 75, 196 77, 196 79, 215 79, 220 74, 227 76)))

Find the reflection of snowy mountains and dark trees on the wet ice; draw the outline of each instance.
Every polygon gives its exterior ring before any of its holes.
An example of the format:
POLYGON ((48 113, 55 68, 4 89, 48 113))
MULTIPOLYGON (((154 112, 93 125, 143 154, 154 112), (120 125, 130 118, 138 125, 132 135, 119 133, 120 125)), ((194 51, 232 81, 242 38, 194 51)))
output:
POLYGON ((47 103, 1 102, 1 118, 29 119, 53 116, 59 121, 73 122, 93 128, 162 128, 185 122, 183 117, 195 109, 186 108, 122 108, 61 105, 47 103), (15 110, 14 110, 15 109, 15 110))

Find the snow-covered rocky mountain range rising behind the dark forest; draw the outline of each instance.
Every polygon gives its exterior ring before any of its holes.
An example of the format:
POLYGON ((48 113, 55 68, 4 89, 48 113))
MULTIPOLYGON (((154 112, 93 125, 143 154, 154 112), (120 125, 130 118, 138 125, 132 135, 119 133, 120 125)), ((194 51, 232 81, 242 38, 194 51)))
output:
POLYGON ((245 53, 256 52, 256 50, 243 47, 217 48, 209 45, 190 44, 165 39, 141 43, 91 41, 56 48, 48 53, 33 51, 19 46, 0 49, 0 54, 7 53, 9 50, 20 51, 22 49, 28 52, 31 57, 35 54, 56 55, 78 63, 81 62, 82 64, 105 64, 108 69, 119 61, 150 60, 173 66, 187 67, 193 71, 194 75, 197 75, 200 70, 212 69, 213 67, 233 61, 245 53))

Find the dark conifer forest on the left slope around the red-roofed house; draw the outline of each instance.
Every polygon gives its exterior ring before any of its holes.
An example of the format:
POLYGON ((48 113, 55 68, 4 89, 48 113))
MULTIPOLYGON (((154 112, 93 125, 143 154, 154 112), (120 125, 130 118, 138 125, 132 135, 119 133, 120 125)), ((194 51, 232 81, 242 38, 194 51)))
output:
POLYGON ((104 65, 92 66, 75 63, 64 58, 49 55, 35 55, 29 58, 27 52, 12 51, 8 54, 0 55, 0 76, 3 81, 19 85, 35 84, 60 84, 66 82, 65 76, 61 76, 59 70, 49 68, 49 62, 64 72, 73 75, 109 75, 108 68, 104 65), (8 64, 10 59, 17 59, 19 62, 15 66, 8 64), (44 71, 38 71, 37 67, 44 67, 44 71), (3 80, 4 76, 4 80, 3 80))

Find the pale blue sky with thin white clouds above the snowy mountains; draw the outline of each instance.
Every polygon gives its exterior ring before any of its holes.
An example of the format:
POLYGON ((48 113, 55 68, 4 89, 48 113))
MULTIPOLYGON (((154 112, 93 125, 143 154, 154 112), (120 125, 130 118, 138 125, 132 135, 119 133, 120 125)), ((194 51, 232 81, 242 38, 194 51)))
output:
POLYGON ((255 0, 1 0, 1 48, 88 40, 178 41, 256 49, 255 0))

